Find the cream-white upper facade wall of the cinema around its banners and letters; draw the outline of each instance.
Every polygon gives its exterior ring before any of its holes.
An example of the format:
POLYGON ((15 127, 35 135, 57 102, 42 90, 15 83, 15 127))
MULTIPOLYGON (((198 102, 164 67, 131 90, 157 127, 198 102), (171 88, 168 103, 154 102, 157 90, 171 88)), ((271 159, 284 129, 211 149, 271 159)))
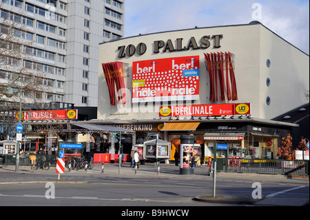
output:
MULTIPOLYGON (((170 48, 171 49, 171 48, 170 48)), ((129 51, 131 52, 131 51, 129 51)), ((193 105, 209 103, 251 103, 251 115, 259 119, 273 119, 280 114, 298 108, 309 103, 306 94, 309 94, 309 55, 298 50, 289 42, 274 34, 265 26, 257 23, 240 26, 219 26, 212 28, 195 28, 192 30, 177 30, 171 32, 159 32, 154 34, 128 37, 119 41, 102 43, 99 46, 99 101, 98 119, 159 119, 159 106, 167 103, 152 103, 147 107, 132 104, 132 65, 134 61, 147 61, 171 57, 199 56, 200 83, 199 99, 192 101, 193 105), (219 45, 216 45, 216 37, 221 34, 219 45), (189 50, 177 50, 177 39, 183 39, 182 47, 187 47, 189 39, 194 37, 200 46, 200 39, 210 36, 208 48, 189 47, 189 50), (166 50, 167 41, 172 42, 174 51, 166 50), (165 42, 165 46, 154 52, 155 41, 165 42), (120 57, 119 47, 132 45, 137 47, 139 43, 145 43, 147 47, 144 54, 135 52, 132 56, 125 53, 120 57), (236 101, 209 101, 209 74, 203 53, 231 52, 233 56, 234 73, 238 90, 236 101), (270 66, 267 67, 267 59, 270 66), (125 72, 125 87, 128 89, 126 106, 112 106, 110 104, 109 90, 103 74, 101 63, 119 61, 128 64, 125 72), (270 80, 267 86, 267 78, 270 80), (128 98, 129 97, 129 98, 128 98), (267 104, 267 97, 270 103, 267 104), (121 112, 119 109, 126 112, 121 112)), ((219 91, 219 88, 218 88, 219 91)), ((116 99, 117 100, 117 99, 116 99)), ((169 103, 168 103, 169 104, 169 103)))

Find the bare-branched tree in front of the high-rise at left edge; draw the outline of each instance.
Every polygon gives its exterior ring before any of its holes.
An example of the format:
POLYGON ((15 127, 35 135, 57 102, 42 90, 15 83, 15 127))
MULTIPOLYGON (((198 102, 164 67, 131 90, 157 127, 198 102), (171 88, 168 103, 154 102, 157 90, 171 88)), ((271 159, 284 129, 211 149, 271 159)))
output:
POLYGON ((15 113, 19 112, 21 90, 24 111, 42 106, 42 94, 48 86, 43 83, 45 74, 33 54, 34 34, 28 31, 28 21, 2 1, 0 12, 0 139, 6 139, 16 132, 15 113), (10 98, 5 95, 9 87, 14 92, 10 98))

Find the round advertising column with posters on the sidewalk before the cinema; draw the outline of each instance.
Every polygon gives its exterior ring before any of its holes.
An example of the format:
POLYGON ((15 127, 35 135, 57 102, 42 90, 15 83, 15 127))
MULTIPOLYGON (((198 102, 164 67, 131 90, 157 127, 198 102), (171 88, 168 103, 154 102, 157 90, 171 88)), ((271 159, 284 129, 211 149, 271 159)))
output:
POLYGON ((193 135, 180 137, 180 174, 194 174, 194 142, 193 135))

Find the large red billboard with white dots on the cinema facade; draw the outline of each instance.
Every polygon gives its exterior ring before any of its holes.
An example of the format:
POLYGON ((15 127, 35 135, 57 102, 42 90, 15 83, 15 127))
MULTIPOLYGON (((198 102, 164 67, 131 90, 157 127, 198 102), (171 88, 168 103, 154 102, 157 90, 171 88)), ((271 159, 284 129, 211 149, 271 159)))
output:
POLYGON ((132 102, 199 99, 199 56, 132 63, 132 102))

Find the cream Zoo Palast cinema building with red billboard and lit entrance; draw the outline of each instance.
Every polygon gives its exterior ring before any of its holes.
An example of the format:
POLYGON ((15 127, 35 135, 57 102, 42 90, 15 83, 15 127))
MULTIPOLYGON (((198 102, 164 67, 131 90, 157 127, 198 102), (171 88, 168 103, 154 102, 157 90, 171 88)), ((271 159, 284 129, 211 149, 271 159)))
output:
POLYGON ((137 142, 161 134, 172 160, 183 134, 202 157, 219 141, 229 157, 276 159, 300 123, 273 119, 306 110, 309 121, 309 55, 258 22, 141 34, 99 45, 98 97, 84 123, 135 130, 137 142))

